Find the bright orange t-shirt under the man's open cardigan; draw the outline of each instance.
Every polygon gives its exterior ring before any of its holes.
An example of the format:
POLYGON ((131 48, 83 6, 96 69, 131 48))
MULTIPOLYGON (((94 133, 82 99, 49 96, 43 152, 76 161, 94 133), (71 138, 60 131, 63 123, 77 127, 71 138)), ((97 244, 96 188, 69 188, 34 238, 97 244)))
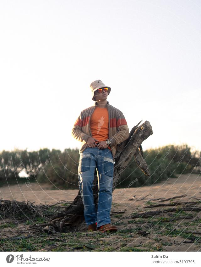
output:
MULTIPOLYGON (((107 108, 95 107, 90 119, 90 129, 92 137, 100 141, 106 141, 108 139, 109 132, 109 116, 107 108)), ((98 141, 95 141, 98 143, 98 141)), ((111 148, 108 146, 111 150, 111 148)))

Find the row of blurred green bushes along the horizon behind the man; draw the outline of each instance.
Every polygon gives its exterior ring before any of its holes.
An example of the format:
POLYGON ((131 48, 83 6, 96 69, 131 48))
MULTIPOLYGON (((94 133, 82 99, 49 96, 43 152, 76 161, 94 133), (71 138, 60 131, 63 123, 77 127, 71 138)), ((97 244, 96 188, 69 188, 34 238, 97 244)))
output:
MULTIPOLYGON (((137 167, 134 157, 122 172, 117 188, 152 185, 178 173, 197 172, 201 168, 201 152, 191 153, 185 145, 167 145, 143 152, 150 170, 150 177, 137 167)), ((78 149, 60 150, 48 148, 39 151, 26 150, 2 151, 0 162, 1 184, 14 184, 23 181, 19 173, 25 170, 28 177, 39 183, 50 183, 54 189, 78 189, 78 149)))

